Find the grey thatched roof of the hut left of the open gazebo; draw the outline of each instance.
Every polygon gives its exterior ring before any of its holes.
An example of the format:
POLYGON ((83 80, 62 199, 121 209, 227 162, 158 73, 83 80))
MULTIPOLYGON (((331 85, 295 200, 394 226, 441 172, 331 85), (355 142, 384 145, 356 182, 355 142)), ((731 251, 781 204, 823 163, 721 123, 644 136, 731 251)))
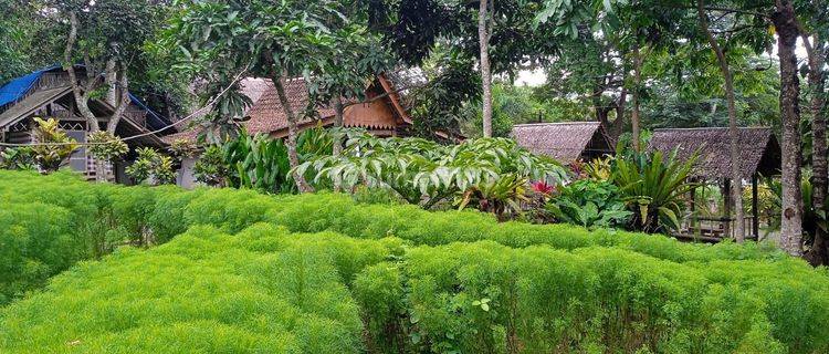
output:
POLYGON ((599 122, 517 124, 512 135, 529 152, 564 163, 613 152, 599 122))

